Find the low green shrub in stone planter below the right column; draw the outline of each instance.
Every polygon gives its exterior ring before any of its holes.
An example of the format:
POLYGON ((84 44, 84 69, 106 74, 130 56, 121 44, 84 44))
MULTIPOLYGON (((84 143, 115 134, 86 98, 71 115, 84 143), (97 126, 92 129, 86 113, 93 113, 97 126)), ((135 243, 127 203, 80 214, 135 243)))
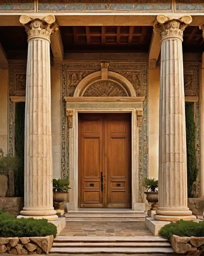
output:
POLYGON ((160 236, 169 239, 173 234, 179 237, 204 237, 204 221, 184 221, 179 220, 165 225, 158 232, 160 236))

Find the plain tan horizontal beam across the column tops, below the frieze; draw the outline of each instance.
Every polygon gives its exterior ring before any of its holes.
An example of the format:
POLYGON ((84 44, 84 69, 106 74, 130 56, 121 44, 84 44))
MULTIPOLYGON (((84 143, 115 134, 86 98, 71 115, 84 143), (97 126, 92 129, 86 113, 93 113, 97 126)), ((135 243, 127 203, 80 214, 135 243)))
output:
MULTIPOLYGON (((24 13, 25 15, 39 16, 39 13, 24 13)), ((51 13, 49 13, 51 14, 51 13)), ((72 13, 56 13, 53 12, 57 19, 59 26, 153 26, 157 14, 155 13, 134 13, 130 15, 126 13, 125 15, 110 15, 109 13, 103 14, 88 14, 80 13, 80 15, 74 15, 72 13)), ((166 13, 169 15, 168 13, 166 13)), ((190 26, 199 26, 204 23, 203 15, 192 15, 192 23, 190 26)), ((48 15, 48 13, 41 13, 40 16, 48 15)), ((173 15, 173 14, 172 14, 173 15)), ((174 14, 175 15, 175 14, 174 14)), ((176 14, 176 16, 183 16, 183 14, 176 14)), ((20 14, 0 14, 0 24, 1 26, 21 26, 19 22, 20 14)))

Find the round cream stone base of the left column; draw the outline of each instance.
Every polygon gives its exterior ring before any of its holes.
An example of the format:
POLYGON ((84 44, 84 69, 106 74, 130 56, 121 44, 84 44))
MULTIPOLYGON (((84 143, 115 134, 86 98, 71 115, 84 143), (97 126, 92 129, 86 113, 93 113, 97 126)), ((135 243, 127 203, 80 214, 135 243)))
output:
POLYGON ((20 215, 17 216, 17 219, 20 218, 47 219, 54 221, 58 219, 58 216, 53 207, 24 207, 20 211, 20 215))

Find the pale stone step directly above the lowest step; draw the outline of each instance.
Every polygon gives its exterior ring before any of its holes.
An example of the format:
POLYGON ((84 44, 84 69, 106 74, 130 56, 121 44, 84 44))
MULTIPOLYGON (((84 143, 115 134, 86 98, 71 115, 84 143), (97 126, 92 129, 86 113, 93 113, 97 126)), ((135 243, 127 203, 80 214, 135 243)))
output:
POLYGON ((54 242, 53 247, 171 247, 169 242, 54 242))

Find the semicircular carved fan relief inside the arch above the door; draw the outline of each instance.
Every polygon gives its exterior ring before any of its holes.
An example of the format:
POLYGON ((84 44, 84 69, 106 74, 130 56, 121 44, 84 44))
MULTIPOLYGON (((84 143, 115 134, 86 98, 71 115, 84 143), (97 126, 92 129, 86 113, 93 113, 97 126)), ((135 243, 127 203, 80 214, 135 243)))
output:
POLYGON ((92 97, 124 97, 128 96, 119 84, 113 81, 101 80, 91 84, 83 96, 92 97))

